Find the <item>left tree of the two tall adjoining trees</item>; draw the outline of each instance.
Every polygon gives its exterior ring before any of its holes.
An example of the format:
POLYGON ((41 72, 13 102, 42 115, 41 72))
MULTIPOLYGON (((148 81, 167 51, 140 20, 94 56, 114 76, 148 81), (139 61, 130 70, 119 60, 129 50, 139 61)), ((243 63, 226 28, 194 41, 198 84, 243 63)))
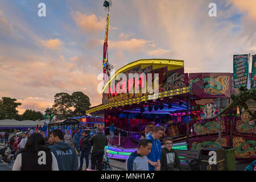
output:
POLYGON ((56 120, 68 119, 69 117, 72 117, 71 108, 71 96, 68 93, 61 92, 55 94, 52 113, 56 120))

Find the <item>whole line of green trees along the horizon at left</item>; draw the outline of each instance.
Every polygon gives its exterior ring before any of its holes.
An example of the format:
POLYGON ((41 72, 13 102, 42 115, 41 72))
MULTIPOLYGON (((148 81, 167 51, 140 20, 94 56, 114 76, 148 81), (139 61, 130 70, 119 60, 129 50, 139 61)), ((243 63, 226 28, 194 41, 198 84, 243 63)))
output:
MULTIPOLYGON (((26 109, 23 114, 18 114, 16 107, 22 105, 16 102, 15 98, 2 97, 0 100, 0 119, 16 119, 23 120, 42 120, 44 114, 41 111, 26 109)), ((68 119, 72 117, 81 117, 85 115, 85 111, 90 107, 90 99, 82 92, 56 93, 54 96, 54 104, 51 107, 54 120, 68 119)))

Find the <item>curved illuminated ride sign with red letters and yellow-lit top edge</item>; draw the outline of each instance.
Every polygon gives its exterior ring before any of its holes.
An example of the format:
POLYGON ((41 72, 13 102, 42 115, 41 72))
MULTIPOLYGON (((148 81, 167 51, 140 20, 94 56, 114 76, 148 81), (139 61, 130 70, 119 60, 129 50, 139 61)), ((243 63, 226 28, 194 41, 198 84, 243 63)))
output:
POLYGON ((138 60, 115 72, 104 86, 103 104, 185 88, 181 60, 138 60))

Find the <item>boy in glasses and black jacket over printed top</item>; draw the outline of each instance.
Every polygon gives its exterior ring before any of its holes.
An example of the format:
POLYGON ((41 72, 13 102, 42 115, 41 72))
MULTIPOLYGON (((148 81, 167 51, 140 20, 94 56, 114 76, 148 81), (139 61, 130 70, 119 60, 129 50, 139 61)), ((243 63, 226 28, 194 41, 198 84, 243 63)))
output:
POLYGON ((172 148, 173 144, 173 139, 171 137, 164 139, 164 148, 162 149, 162 156, 160 161, 161 171, 175 171, 175 164, 180 169, 180 171, 183 171, 177 152, 172 148))

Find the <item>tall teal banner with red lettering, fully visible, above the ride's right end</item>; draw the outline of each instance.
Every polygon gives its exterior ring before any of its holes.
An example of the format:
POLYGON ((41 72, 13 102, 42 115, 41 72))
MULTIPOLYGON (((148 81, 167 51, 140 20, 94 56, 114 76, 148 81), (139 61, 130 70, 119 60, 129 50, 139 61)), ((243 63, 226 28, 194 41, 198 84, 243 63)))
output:
POLYGON ((248 55, 233 56, 234 69, 234 88, 240 88, 245 85, 247 87, 248 80, 248 55))

